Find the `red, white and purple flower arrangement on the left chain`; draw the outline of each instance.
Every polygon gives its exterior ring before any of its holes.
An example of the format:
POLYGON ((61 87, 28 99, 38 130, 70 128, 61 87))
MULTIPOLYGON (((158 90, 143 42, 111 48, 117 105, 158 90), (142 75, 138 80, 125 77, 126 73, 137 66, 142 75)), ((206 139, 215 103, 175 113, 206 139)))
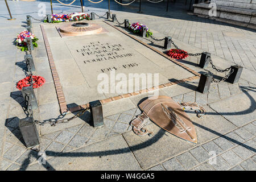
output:
POLYGON ((35 35, 31 32, 25 30, 23 32, 20 32, 15 40, 16 46, 21 49, 21 51, 28 51, 26 38, 31 38, 33 46, 38 47, 38 43, 36 43, 38 41, 38 38, 36 38, 35 35))

